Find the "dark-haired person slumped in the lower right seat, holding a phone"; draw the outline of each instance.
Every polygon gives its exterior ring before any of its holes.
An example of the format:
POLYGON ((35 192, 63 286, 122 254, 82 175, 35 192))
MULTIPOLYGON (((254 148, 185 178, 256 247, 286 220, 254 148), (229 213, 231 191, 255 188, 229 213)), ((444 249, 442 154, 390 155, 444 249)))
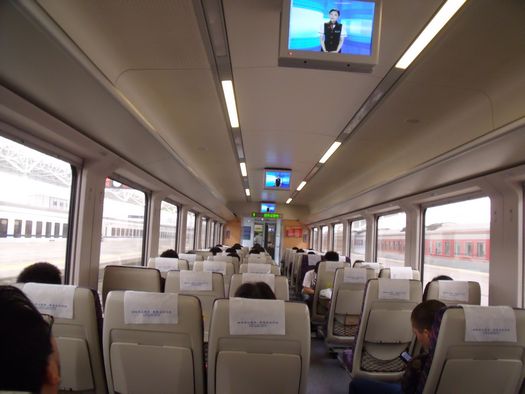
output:
POLYGON ((434 317, 436 313, 445 308, 446 305, 441 301, 429 300, 423 301, 412 311, 410 320, 412 322, 412 329, 421 344, 422 353, 415 356, 407 363, 405 374, 401 379, 401 383, 388 383, 376 380, 356 378, 350 382, 350 394, 359 393, 382 393, 382 394, 412 394, 417 390, 419 377, 422 373, 423 366, 428 357, 430 348, 430 336, 432 332, 432 325, 434 324, 434 317))

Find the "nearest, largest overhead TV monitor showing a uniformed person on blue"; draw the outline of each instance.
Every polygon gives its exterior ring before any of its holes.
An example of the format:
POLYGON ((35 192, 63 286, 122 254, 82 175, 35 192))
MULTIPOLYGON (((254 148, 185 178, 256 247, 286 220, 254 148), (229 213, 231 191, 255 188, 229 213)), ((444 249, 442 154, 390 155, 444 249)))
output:
POLYGON ((381 0, 284 0, 279 65, 371 72, 381 0))

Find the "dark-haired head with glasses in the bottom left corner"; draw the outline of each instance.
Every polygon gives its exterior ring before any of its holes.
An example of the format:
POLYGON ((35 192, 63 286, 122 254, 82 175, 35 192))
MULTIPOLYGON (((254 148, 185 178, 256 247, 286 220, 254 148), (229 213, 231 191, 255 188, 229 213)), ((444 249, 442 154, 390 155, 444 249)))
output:
POLYGON ((0 286, 0 311, 0 391, 57 393, 60 365, 50 323, 13 286, 0 286))

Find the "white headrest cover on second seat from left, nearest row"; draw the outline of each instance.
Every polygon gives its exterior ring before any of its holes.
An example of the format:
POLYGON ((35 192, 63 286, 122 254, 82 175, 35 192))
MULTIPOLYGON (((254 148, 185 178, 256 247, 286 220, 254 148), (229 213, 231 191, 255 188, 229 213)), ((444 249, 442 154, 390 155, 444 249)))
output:
POLYGON ((124 292, 126 324, 177 324, 179 295, 175 293, 124 292))

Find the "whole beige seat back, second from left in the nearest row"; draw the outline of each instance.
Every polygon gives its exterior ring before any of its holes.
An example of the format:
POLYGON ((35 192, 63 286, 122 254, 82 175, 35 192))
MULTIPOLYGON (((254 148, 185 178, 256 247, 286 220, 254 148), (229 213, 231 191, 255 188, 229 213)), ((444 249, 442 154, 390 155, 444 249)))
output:
POLYGON ((176 387, 178 393, 204 393, 202 339, 197 298, 112 291, 104 322, 104 362, 110 393, 160 394, 167 387, 176 387), (144 311, 160 311, 162 322, 152 323, 153 314, 144 318, 144 311), (174 315, 175 321, 163 319, 174 315))

